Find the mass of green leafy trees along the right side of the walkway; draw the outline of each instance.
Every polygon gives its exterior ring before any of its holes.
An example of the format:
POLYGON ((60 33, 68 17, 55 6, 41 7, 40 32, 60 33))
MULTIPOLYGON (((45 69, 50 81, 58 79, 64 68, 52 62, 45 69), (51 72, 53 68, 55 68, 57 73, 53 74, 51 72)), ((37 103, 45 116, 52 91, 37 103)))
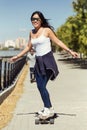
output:
POLYGON ((57 36, 71 49, 87 55, 87 2, 75 0, 72 3, 74 16, 57 29, 57 36))

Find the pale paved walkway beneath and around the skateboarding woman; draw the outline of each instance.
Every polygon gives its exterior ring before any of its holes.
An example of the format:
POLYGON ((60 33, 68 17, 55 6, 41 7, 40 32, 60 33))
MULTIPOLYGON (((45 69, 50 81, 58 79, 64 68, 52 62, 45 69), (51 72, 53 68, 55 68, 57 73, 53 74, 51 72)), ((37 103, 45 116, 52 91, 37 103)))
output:
MULTIPOLYGON (((59 58, 55 54, 55 59, 59 58)), ((87 130, 87 69, 57 61, 60 74, 48 83, 51 100, 59 117, 53 125, 35 125, 34 112, 43 108, 36 83, 24 81, 24 93, 17 103, 14 116, 2 130, 87 130)))

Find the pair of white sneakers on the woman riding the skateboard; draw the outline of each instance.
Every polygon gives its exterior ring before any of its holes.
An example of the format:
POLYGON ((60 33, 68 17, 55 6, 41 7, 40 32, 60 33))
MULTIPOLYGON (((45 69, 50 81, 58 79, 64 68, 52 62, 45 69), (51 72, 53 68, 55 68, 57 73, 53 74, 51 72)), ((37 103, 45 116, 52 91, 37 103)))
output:
POLYGON ((44 111, 41 112, 41 114, 39 115, 39 117, 41 119, 46 119, 49 117, 52 117, 54 115, 54 109, 53 108, 44 108, 44 111))

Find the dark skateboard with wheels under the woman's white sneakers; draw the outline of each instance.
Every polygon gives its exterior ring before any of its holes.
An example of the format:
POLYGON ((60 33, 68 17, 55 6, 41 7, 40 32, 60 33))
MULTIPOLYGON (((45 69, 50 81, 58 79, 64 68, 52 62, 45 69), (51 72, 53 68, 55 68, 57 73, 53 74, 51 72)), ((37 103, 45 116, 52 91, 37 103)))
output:
POLYGON ((57 117, 57 113, 54 113, 54 115, 52 117, 48 117, 46 119, 41 119, 39 117, 39 114, 36 114, 36 119, 35 119, 35 124, 54 124, 54 120, 57 117))

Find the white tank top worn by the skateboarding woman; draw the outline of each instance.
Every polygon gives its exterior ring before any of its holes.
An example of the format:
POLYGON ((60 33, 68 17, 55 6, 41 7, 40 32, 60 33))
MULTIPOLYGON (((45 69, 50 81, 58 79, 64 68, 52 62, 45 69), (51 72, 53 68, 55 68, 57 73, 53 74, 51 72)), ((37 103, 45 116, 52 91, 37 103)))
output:
POLYGON ((36 50, 37 56, 43 56, 51 51, 50 38, 43 33, 38 38, 31 38, 31 43, 36 50))

